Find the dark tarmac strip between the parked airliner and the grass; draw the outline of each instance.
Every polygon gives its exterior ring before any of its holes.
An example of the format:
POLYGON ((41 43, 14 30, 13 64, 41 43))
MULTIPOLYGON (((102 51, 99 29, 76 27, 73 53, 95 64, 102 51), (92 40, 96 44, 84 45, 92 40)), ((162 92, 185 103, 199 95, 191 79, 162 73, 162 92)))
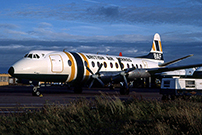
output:
POLYGON ((0 114, 36 110, 52 104, 66 105, 72 100, 79 98, 94 99, 102 94, 110 97, 116 96, 121 100, 127 100, 131 97, 160 100, 162 97, 158 88, 131 88, 129 95, 120 95, 119 88, 115 88, 115 90, 83 88, 82 94, 74 94, 73 90, 68 90, 67 87, 51 86, 39 89, 43 97, 32 96, 32 88, 31 86, 1 86, 0 114))

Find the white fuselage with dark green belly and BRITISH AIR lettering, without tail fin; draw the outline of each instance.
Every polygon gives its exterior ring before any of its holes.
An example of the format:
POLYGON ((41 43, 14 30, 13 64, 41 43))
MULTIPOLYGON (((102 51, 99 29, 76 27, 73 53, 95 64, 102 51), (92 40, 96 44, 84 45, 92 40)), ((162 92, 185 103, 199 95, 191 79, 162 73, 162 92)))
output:
MULTIPOLYGON (((86 65, 93 73, 98 70, 101 63, 103 66, 100 73, 120 72, 121 67, 118 58, 123 64, 123 69, 132 67, 135 67, 135 70, 157 68, 160 63, 164 62, 163 60, 147 58, 36 50, 29 52, 22 60, 16 62, 9 72, 14 77, 30 80, 83 82, 91 76, 91 73, 86 69, 86 65)), ((130 72, 129 78, 130 75, 134 77, 133 72, 130 72)), ((138 77, 144 76, 139 74, 138 77)))

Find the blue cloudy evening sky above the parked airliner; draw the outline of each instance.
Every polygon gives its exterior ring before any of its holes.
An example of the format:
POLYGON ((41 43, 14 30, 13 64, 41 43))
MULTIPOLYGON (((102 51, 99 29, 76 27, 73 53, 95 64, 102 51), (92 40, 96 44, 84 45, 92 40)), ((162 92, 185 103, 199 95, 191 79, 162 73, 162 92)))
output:
POLYGON ((202 62, 200 0, 6 0, 0 4, 0 73, 34 49, 145 55, 155 33, 164 58, 202 62))

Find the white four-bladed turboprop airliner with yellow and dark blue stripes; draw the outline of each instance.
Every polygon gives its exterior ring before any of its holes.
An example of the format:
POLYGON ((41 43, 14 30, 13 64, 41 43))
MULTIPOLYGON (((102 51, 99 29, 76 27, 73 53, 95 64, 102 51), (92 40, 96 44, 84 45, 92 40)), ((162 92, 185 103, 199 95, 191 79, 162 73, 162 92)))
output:
MULTIPOLYGON (((120 94, 129 94, 128 82, 135 78, 146 78, 165 71, 199 67, 202 64, 167 67, 188 55, 164 63, 160 35, 154 35, 151 51, 141 57, 123 57, 90 53, 34 50, 10 67, 8 73, 18 79, 44 82, 64 82, 74 86, 75 93, 82 92, 82 86, 92 87, 97 81, 102 86, 120 83, 120 94)), ((33 95, 39 95, 37 87, 33 95)))

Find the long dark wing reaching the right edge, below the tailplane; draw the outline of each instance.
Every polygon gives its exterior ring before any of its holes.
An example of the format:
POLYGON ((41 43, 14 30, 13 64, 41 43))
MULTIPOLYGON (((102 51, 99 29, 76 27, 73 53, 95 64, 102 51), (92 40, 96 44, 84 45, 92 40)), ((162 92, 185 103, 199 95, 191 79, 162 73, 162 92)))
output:
POLYGON ((193 64, 193 65, 184 65, 184 66, 174 66, 174 67, 162 67, 162 68, 152 68, 147 69, 150 74, 161 73, 166 71, 174 71, 179 69, 193 68, 193 67, 201 67, 202 64, 193 64))

